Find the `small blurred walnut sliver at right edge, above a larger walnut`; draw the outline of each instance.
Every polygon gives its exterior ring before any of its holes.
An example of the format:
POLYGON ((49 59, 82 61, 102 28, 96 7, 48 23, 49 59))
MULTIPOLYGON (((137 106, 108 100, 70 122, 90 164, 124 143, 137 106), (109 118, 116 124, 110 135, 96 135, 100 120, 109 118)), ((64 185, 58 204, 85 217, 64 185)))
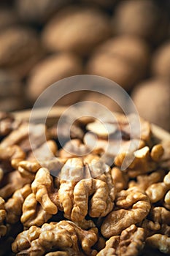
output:
POLYGON ((161 45, 152 56, 152 73, 170 80, 170 41, 161 45))

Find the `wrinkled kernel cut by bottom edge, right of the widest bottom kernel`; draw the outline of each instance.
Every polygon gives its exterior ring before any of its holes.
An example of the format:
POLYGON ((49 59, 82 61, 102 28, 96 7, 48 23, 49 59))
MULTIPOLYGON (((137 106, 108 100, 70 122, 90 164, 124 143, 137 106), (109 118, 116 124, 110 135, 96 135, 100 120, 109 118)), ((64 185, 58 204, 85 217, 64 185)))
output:
POLYGON ((112 236, 97 256, 139 255, 144 246, 144 229, 131 225, 122 231, 120 236, 112 236))

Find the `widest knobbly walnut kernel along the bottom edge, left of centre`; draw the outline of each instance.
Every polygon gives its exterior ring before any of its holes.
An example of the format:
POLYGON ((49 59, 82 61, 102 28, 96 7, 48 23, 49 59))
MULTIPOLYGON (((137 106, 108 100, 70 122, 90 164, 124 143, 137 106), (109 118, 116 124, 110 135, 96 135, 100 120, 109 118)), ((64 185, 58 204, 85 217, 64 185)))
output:
MULTIPOLYGON (((56 249, 67 252, 68 255, 96 255, 96 250, 91 247, 97 241, 97 229, 82 230, 73 222, 61 221, 58 223, 45 223, 41 228, 32 226, 23 231, 12 244, 15 253, 25 252, 27 255, 45 255, 56 249)), ((64 255, 64 254, 63 254, 64 255)))

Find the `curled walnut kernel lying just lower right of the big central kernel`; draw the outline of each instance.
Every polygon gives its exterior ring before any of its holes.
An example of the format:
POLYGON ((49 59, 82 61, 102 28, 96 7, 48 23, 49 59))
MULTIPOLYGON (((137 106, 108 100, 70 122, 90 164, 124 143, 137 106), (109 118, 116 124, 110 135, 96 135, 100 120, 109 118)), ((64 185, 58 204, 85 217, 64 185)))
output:
POLYGON ((150 200, 142 190, 134 187, 117 193, 116 206, 101 225, 101 234, 106 238, 120 235, 125 228, 147 217, 150 200))

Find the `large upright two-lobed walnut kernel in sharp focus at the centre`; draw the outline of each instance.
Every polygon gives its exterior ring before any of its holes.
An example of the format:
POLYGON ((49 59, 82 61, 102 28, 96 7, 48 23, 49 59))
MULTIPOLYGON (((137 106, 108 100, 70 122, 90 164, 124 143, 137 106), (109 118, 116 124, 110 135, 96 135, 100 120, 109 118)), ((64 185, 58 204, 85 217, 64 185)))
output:
POLYGON ((115 186, 108 166, 98 157, 88 156, 84 163, 82 159, 69 159, 61 170, 61 178, 58 196, 67 219, 82 221, 87 214, 104 217, 112 211, 115 186))

